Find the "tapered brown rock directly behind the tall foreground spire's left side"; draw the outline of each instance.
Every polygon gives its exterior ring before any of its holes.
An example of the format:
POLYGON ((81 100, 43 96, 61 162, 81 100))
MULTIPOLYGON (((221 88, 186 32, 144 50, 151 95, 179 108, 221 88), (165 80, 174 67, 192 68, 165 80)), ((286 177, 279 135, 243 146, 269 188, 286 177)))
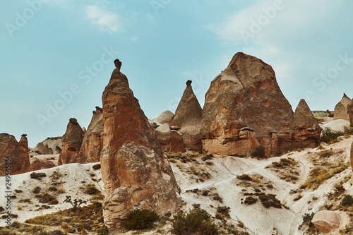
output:
POLYGON ((103 147, 103 124, 102 124, 102 108, 95 107, 90 125, 83 137, 80 152, 75 162, 88 163, 100 162, 100 154, 103 147))

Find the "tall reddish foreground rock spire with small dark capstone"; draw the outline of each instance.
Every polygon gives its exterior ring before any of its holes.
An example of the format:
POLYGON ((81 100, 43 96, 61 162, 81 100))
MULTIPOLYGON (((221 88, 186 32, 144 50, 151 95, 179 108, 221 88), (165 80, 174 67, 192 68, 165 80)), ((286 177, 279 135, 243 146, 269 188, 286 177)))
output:
POLYGON ((116 68, 102 95, 102 179, 104 223, 120 231, 129 210, 152 209, 159 215, 178 209, 177 181, 126 76, 116 68))

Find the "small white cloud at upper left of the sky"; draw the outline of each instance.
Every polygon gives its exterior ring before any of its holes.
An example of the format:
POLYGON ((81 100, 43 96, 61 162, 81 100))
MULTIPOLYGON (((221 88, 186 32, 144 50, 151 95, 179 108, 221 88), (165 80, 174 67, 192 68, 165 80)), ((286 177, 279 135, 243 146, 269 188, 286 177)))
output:
POLYGON ((124 26, 118 15, 104 11, 98 6, 86 6, 86 14, 92 23, 100 25, 101 30, 107 32, 124 32, 124 26))

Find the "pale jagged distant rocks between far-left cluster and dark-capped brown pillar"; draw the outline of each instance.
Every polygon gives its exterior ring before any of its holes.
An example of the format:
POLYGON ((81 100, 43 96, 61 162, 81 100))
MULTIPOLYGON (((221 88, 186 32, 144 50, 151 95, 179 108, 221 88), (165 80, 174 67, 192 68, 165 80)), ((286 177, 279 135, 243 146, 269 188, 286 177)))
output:
POLYGON ((57 155, 61 152, 61 139, 62 137, 52 137, 37 144, 30 150, 30 157, 36 155, 57 155))

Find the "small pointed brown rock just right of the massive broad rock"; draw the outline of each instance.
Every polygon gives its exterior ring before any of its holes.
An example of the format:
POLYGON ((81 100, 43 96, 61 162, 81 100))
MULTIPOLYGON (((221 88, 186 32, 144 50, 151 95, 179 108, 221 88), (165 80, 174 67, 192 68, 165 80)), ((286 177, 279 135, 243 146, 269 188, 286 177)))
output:
POLYGON ((294 113, 294 141, 300 147, 316 147, 320 142, 321 127, 305 100, 301 99, 294 113))

